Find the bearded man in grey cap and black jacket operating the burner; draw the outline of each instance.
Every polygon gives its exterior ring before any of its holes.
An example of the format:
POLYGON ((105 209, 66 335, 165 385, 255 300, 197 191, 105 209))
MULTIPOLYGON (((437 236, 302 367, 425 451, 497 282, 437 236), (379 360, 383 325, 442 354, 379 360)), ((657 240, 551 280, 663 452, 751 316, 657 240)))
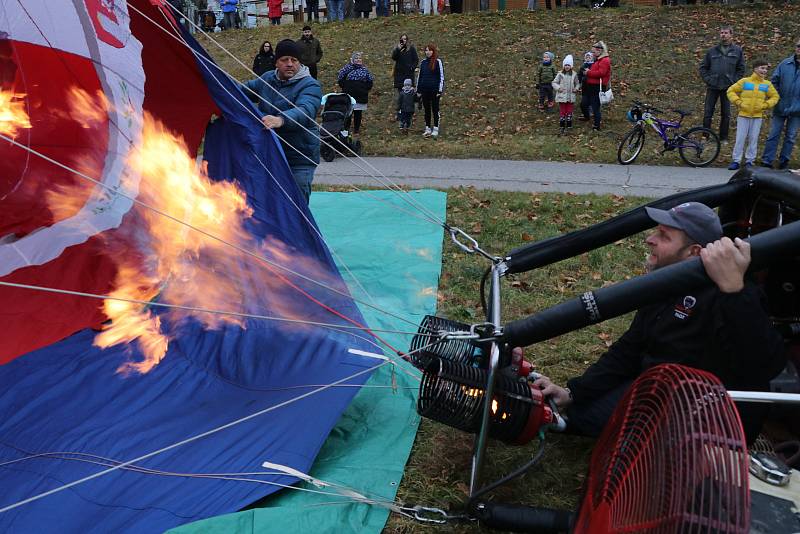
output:
MULTIPOLYGON (((567 411, 567 429, 576 434, 599 435, 631 383, 655 365, 679 363, 715 374, 729 389, 768 391, 786 364, 763 293, 744 277, 750 244, 722 237, 717 214, 698 202, 645 209, 658 223, 645 240, 648 272, 700 256, 716 286, 641 308, 628 331, 583 375, 568 380, 568 387, 547 377, 535 382, 567 411)), ((763 410, 739 411, 750 442, 763 410)))

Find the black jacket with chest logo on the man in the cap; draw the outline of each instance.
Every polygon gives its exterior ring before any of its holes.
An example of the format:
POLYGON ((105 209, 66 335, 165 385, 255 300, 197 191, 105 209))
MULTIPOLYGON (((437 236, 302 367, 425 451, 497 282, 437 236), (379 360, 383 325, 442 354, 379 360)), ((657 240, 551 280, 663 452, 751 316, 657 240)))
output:
POLYGON ((715 374, 728 389, 769 390, 786 364, 783 339, 763 292, 716 286, 640 309, 628 329, 586 372, 567 382, 576 402, 598 398, 662 363, 715 374))

